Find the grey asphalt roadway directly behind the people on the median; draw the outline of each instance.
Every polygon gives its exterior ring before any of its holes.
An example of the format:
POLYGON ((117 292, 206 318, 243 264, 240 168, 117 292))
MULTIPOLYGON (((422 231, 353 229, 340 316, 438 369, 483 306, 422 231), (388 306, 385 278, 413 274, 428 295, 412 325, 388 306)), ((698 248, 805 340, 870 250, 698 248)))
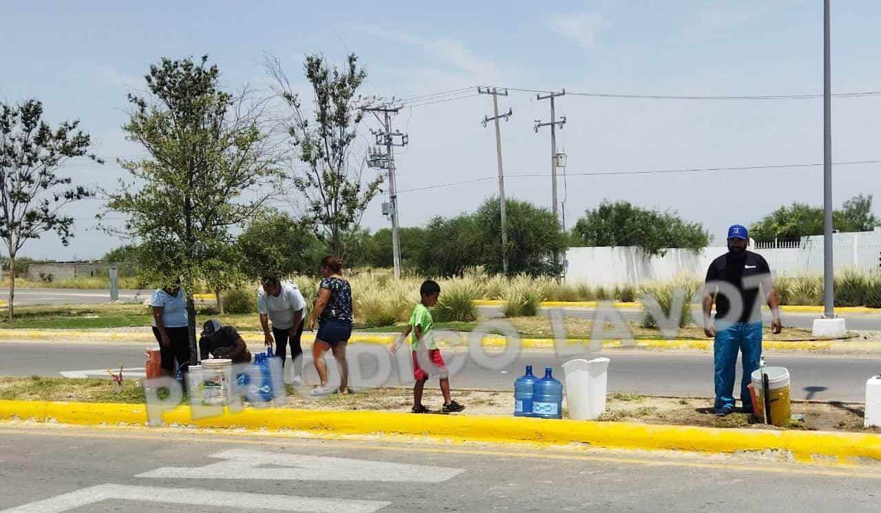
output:
MULTIPOLYGON (((46 342, 0 342, 0 376, 60 376, 61 372, 93 370, 99 377, 107 377, 105 369, 144 368, 144 345, 132 343, 96 342, 46 343, 46 342)), ((401 352, 403 354, 403 352, 401 352)), ((485 390, 513 390, 514 380, 523 374, 526 364, 531 364, 537 374, 545 366, 563 379, 561 363, 575 356, 558 358, 550 351, 523 351, 515 358, 505 359, 493 355, 492 360, 479 362, 466 351, 445 350, 444 358, 453 372, 451 383, 458 388, 485 390), (461 364, 461 368, 459 365, 461 364)), ((652 395, 691 397, 713 396, 713 358, 703 352, 628 351, 609 350, 588 357, 603 355, 611 359, 609 389, 620 392, 640 392, 652 395)), ((407 355, 403 356, 407 358, 407 355)), ((315 369, 310 360, 306 362, 307 382, 317 383, 315 369)), ((792 376, 793 399, 842 400, 862 402, 865 400, 866 379, 881 374, 881 356, 870 355, 816 355, 792 353, 767 353, 769 365, 781 365, 792 376)), ((360 376, 352 370, 352 384, 364 384, 378 377, 382 385, 411 385, 411 375, 403 371, 400 378, 397 369, 403 368, 379 345, 349 347, 350 367, 359 363, 360 376), (385 358, 382 366, 378 358, 385 358), (384 369, 384 372, 380 370, 384 369)), ((330 363, 331 380, 338 379, 336 365, 330 363)), ((136 371, 138 372, 138 371, 136 371)), ((143 372, 143 371, 140 371, 143 372)), ((73 375, 72 377, 76 377, 73 375)), ((132 375, 135 377, 135 375, 132 375)), ((739 383, 739 377, 738 377, 739 383)), ((429 386, 437 386, 432 379, 429 386)), ((736 387, 739 390, 739 387, 736 387)), ((737 393, 737 392, 736 392, 737 393)))

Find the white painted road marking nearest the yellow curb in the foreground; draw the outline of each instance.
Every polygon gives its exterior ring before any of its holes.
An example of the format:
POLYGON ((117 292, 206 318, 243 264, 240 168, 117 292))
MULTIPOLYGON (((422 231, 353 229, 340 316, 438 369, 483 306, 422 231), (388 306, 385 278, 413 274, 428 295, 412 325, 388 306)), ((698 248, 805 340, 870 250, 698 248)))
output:
POLYGON ((212 454, 226 461, 196 467, 167 466, 141 478, 229 480, 321 480, 439 483, 464 472, 461 468, 408 465, 365 459, 305 456, 281 452, 232 449, 212 454), (259 468, 274 465, 272 468, 259 468), (283 467, 283 468, 279 468, 283 467), (287 467, 287 468, 284 468, 287 467))

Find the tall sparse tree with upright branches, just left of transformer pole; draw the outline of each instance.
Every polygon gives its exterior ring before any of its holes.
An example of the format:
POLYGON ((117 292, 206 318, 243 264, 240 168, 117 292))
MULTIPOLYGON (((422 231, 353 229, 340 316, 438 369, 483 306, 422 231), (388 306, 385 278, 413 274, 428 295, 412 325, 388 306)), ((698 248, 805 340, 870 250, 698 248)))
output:
POLYGON ((347 236, 357 231, 382 183, 381 176, 362 183, 366 149, 355 156, 362 107, 369 103, 358 94, 366 71, 354 54, 348 55, 343 70, 331 69, 322 55, 307 55, 304 68, 315 105, 310 116, 278 59, 267 58, 266 65, 290 112, 285 122, 293 148, 307 168, 292 170, 293 185, 305 198, 304 218, 331 253, 344 257, 347 236))

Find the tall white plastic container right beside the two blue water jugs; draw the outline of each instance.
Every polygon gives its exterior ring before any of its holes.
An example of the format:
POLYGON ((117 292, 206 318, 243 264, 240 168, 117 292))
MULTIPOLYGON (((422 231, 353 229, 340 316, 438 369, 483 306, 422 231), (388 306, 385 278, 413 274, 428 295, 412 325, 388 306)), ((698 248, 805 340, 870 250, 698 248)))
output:
POLYGON ((609 358, 581 358, 563 364, 566 374, 566 407, 569 418, 591 421, 605 412, 609 358))

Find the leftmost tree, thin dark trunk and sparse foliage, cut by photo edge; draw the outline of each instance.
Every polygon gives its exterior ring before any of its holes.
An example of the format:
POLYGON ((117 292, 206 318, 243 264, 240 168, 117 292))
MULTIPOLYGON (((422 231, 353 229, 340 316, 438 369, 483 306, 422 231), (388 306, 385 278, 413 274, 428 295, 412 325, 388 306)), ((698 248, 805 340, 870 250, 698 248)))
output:
POLYGON ((55 231, 67 246, 73 217, 62 209, 92 195, 73 180, 60 177, 70 158, 87 157, 91 140, 79 121, 63 121, 53 130, 42 121, 43 105, 28 99, 19 106, 0 102, 0 238, 9 253, 9 317, 15 313, 15 257, 28 240, 55 231))

